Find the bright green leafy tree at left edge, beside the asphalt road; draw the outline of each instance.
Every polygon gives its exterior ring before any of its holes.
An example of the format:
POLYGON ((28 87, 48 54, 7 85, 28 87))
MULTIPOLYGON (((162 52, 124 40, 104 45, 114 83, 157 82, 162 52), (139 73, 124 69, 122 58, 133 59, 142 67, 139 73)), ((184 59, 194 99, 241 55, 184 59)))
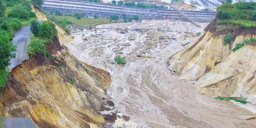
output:
POLYGON ((10 43, 10 37, 5 30, 0 30, 0 69, 5 70, 5 67, 10 65, 11 58, 15 57, 12 52, 16 48, 10 43))

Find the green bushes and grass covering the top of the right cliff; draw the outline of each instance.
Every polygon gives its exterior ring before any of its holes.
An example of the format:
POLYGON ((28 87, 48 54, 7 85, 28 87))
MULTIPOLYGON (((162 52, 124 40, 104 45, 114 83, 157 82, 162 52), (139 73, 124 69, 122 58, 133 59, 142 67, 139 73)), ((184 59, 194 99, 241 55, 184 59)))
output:
POLYGON ((234 25, 241 28, 256 27, 256 3, 224 3, 217 7, 219 25, 234 25))

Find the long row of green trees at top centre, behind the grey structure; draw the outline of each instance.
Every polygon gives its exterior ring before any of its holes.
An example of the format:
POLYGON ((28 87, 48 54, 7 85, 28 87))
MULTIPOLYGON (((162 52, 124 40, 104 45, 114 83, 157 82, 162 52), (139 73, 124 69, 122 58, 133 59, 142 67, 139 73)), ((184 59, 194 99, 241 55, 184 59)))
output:
POLYGON ((159 8, 159 9, 167 9, 164 5, 156 5, 151 3, 135 3, 135 2, 126 2, 124 6, 129 7, 139 7, 139 8, 159 8))

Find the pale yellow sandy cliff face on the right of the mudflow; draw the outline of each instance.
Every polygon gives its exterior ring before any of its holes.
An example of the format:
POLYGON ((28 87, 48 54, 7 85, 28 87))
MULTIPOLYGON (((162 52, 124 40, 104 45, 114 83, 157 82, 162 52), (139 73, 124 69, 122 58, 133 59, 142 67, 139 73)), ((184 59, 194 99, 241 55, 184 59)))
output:
POLYGON ((248 97, 248 94, 255 94, 255 42, 231 51, 244 39, 256 38, 255 29, 218 26, 216 21, 212 21, 191 45, 169 59, 169 69, 182 79, 199 79, 201 90, 209 95, 248 97), (230 31, 232 42, 225 46, 224 37, 230 31))

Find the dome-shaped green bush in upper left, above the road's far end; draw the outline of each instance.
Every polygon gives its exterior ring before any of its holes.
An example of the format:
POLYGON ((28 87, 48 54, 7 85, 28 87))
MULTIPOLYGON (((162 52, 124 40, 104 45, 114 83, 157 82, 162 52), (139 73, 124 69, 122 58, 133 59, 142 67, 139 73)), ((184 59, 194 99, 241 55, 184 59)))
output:
POLYGON ((30 11, 22 4, 18 4, 13 6, 7 15, 12 18, 28 19, 30 18, 30 11))

